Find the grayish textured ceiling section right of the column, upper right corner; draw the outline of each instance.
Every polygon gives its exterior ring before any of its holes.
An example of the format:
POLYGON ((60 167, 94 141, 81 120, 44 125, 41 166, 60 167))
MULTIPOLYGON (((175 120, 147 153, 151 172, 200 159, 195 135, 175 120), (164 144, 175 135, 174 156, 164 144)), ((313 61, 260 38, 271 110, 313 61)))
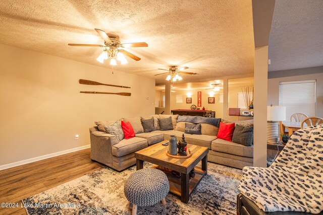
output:
POLYGON ((276 0, 269 71, 323 65, 323 1, 276 0))

